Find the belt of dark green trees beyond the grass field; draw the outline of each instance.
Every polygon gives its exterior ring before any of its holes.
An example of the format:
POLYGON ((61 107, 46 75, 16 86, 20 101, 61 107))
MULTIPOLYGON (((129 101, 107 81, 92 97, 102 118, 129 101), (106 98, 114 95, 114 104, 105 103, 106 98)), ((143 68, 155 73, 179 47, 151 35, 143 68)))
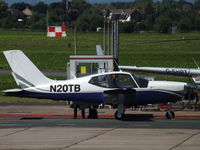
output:
POLYGON ((91 5, 86 0, 73 0, 69 9, 66 9, 66 1, 54 2, 49 5, 39 2, 34 6, 27 3, 15 3, 8 9, 7 4, 0 0, 0 27, 5 28, 46 28, 46 12, 49 12, 49 24, 68 26, 77 22, 80 31, 95 31, 103 26, 102 9, 127 9, 134 8, 132 22, 120 24, 122 32, 137 32, 140 30, 155 30, 169 33, 171 27, 177 26, 180 31, 200 29, 200 0, 193 4, 185 0, 135 0, 132 3, 118 2, 111 4, 91 5), (29 7, 33 10, 31 19, 23 18, 22 11, 29 7), (194 8, 194 9, 193 9, 194 8), (23 22, 18 22, 23 18, 23 22))

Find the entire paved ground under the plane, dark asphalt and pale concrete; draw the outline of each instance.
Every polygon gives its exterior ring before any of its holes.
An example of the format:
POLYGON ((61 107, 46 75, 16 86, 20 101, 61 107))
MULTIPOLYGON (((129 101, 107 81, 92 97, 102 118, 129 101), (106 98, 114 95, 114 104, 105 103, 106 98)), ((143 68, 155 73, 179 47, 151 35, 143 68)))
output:
MULTIPOLYGON (((41 150, 199 150, 200 118, 165 118, 129 115, 126 121, 113 118, 72 119, 59 116, 63 106, 0 106, 0 149, 41 150), (43 110, 41 109, 43 108, 43 110), (31 116, 32 113, 59 114, 31 116)), ((113 110, 100 110, 112 113, 113 110)), ((197 112, 198 113, 198 112, 197 112)), ((187 112, 187 114, 193 114, 187 112)), ((149 116, 149 115, 148 115, 149 116)))

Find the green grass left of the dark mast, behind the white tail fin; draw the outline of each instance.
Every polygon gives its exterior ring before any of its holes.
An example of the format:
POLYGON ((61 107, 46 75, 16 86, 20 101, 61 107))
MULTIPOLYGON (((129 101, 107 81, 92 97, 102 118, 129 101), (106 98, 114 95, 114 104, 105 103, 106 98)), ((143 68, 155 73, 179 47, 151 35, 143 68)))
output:
MULTIPOLYGON (((78 36, 78 54, 95 54, 95 45, 101 44, 100 34, 78 36), (99 38, 98 38, 99 37, 99 38), (80 42, 79 42, 80 41, 80 42)), ((42 70, 66 70, 69 55, 73 55, 73 35, 66 38, 47 38, 43 32, 0 31, 0 52, 20 49, 42 70)), ((1 53, 0 68, 9 68, 1 53)))

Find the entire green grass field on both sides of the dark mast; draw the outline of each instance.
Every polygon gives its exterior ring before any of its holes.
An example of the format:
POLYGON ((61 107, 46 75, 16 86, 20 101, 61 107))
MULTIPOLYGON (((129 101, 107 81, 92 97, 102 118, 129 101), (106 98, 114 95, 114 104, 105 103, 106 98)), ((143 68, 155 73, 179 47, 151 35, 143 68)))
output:
MULTIPOLYGON (((143 43, 146 41, 200 39, 200 32, 158 34, 120 34, 120 65, 196 68, 200 65, 200 40, 143 43)), ((78 33, 77 54, 96 55, 95 46, 103 45, 102 33, 78 33)), ((20 49, 41 70, 66 70, 69 55, 74 53, 73 33, 66 38, 47 38, 45 32, 0 30, 0 69, 9 69, 2 51, 20 49)), ((153 75, 152 75, 153 76, 153 75)), ((169 76, 156 79, 170 80, 169 76)), ((188 81, 187 78, 173 80, 188 81)), ((0 90, 17 87, 12 76, 0 75, 0 90)))

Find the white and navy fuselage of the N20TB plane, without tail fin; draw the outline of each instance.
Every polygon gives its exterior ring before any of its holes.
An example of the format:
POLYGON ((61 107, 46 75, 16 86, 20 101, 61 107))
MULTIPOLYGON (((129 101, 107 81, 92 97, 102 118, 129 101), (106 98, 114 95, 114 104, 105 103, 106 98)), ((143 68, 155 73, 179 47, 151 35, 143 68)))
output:
MULTIPOLYGON (((73 80, 54 81, 50 84, 38 85, 23 89, 20 93, 7 92, 7 95, 31 98, 46 98, 54 100, 69 100, 88 104, 113 104, 118 98, 120 92, 126 89, 132 89, 134 92, 125 93, 125 105, 146 105, 153 103, 175 102, 181 100, 184 95, 186 83, 169 81, 149 81, 147 87, 140 88, 134 77, 129 73, 112 72, 102 75, 91 75, 73 80), (112 75, 126 76, 129 81, 126 85, 121 84, 117 79, 112 83, 112 75), (99 79, 96 82, 93 80, 99 79), (105 79, 103 79, 105 78, 105 79), (107 78, 107 79, 106 79, 107 78), (102 80, 102 81, 101 81, 102 80), (105 80, 105 83, 104 81, 105 80), (110 83, 109 83, 110 82, 110 83), (132 83, 131 83, 132 82, 132 83), (105 91, 121 89, 118 93, 109 93, 105 91)), ((124 84, 124 83, 123 83, 124 84)))

